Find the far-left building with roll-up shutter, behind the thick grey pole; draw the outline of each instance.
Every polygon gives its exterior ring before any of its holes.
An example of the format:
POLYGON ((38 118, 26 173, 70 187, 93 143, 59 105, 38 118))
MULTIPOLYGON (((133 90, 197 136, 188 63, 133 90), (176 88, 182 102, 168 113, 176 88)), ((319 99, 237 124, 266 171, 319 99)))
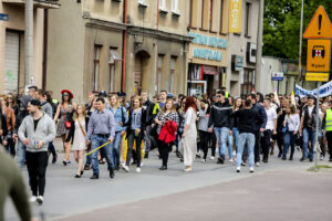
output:
MULTIPOLYGON (((45 18, 49 9, 59 9, 54 0, 33 3, 33 75, 34 85, 43 86, 45 62, 45 18)), ((8 21, 0 21, 0 93, 24 92, 24 1, 0 0, 0 13, 8 14, 8 21)))

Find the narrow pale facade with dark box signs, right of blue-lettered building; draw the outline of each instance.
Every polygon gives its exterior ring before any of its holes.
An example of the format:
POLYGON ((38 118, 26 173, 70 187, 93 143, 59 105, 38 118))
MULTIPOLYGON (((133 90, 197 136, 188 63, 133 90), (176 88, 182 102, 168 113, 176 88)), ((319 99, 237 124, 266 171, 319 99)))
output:
POLYGON ((256 82, 259 0, 240 2, 241 31, 229 33, 226 87, 232 96, 251 93, 256 82))

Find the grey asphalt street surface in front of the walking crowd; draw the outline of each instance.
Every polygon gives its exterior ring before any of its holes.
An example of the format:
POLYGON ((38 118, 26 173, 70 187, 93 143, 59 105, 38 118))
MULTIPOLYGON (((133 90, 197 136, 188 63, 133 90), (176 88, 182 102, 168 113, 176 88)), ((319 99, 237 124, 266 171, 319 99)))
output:
MULTIPOLYGON (((332 173, 308 172, 313 164, 300 162, 299 151, 294 161, 271 156, 255 173, 248 166, 236 173, 234 162, 217 165, 216 159, 197 159, 194 171, 185 173, 175 154, 168 170, 159 171, 153 151, 141 173, 132 166, 110 179, 101 165, 98 180, 90 180, 91 170, 75 179, 75 162, 64 167, 59 156, 48 168, 44 204, 33 204, 34 215, 45 220, 331 220, 332 173)), ((23 176, 28 181, 25 169, 23 176)), ((18 220, 9 200, 6 220, 18 220)))

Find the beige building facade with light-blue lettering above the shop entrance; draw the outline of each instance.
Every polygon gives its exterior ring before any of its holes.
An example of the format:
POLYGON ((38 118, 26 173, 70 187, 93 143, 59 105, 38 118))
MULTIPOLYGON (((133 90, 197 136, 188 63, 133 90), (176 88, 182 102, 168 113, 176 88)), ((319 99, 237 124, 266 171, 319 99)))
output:
POLYGON ((225 86, 228 64, 228 0, 190 0, 188 95, 211 96, 225 86))

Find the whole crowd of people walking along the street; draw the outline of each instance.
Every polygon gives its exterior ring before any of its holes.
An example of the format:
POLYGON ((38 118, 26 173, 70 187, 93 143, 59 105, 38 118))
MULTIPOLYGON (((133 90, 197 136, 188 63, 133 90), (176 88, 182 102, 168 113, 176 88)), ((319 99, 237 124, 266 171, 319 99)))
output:
POLYGON ((332 161, 332 95, 321 98, 319 108, 314 96, 251 93, 231 97, 225 87, 214 97, 160 91, 151 101, 143 91, 126 99, 125 93, 101 91, 89 94, 86 104, 76 104, 69 90, 61 97, 58 102, 52 92, 35 86, 20 97, 0 96, 1 144, 21 168, 27 165, 31 202, 43 203, 49 156, 52 164, 59 161, 56 136, 63 144, 63 166, 71 164, 73 152, 75 178, 92 170, 91 179, 98 179, 98 165, 105 162, 111 179, 117 170, 129 172, 133 165, 141 172, 143 159, 154 149, 160 170, 167 170, 174 150, 185 172, 193 171, 197 158, 206 164, 209 149, 210 160, 235 164, 237 172, 247 164, 253 172, 274 151, 281 160, 293 160, 295 147, 302 151, 301 161, 312 161, 317 141, 320 159, 329 152, 332 161))

